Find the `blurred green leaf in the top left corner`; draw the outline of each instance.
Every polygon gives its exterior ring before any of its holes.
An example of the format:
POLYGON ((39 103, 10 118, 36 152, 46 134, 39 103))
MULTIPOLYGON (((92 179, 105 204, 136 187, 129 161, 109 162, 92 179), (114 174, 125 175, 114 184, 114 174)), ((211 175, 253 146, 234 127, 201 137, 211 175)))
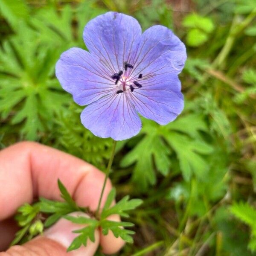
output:
POLYGON ((0 0, 0 14, 16 30, 19 20, 29 17, 29 8, 23 0, 0 0))

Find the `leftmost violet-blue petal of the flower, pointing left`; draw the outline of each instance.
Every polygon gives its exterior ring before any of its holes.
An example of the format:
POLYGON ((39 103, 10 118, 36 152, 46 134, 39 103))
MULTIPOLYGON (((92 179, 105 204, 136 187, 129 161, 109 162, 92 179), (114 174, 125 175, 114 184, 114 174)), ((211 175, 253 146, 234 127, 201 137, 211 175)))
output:
POLYGON ((56 76, 79 105, 88 105, 115 90, 114 82, 102 64, 80 48, 71 48, 61 54, 56 64, 56 76))

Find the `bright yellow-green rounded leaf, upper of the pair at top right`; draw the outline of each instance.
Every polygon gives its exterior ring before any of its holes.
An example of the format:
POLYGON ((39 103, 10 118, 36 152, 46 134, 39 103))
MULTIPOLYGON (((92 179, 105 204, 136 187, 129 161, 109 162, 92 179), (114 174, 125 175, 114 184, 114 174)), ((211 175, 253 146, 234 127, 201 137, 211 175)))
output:
MULTIPOLYGON (((206 33, 211 33, 214 29, 214 23, 209 17, 202 17, 196 13, 187 15, 183 19, 182 24, 187 28, 197 29, 197 31, 201 30, 206 33)), ((194 32, 193 34, 200 35, 199 32, 194 32)))

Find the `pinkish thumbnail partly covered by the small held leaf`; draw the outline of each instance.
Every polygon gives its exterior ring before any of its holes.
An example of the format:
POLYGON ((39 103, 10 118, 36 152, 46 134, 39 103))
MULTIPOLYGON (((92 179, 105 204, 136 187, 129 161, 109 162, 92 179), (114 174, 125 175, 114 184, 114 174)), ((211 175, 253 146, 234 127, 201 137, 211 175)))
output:
MULTIPOLYGON (((84 216, 88 217, 87 214, 82 212, 73 212, 70 214, 72 216, 84 216)), ((68 248, 72 241, 79 236, 77 233, 73 233, 72 231, 78 230, 85 227, 85 225, 75 224, 71 221, 68 221, 64 218, 60 219, 56 224, 47 229, 44 232, 44 236, 57 241, 62 244, 64 247, 68 248)), ((93 243, 90 239, 87 240, 87 246, 84 247, 82 245, 79 249, 71 251, 69 254, 73 256, 93 256, 99 246, 99 230, 95 230, 95 242, 93 243)))

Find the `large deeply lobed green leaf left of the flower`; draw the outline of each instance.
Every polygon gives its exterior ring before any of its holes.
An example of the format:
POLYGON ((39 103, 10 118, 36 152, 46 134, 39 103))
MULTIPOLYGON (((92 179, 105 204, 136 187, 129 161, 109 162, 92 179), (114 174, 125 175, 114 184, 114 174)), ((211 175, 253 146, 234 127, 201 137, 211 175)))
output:
POLYGON ((11 124, 23 122, 21 133, 29 140, 52 128, 55 114, 70 100, 53 77, 60 52, 41 44, 37 35, 20 23, 17 35, 0 49, 1 118, 12 113, 11 124))

